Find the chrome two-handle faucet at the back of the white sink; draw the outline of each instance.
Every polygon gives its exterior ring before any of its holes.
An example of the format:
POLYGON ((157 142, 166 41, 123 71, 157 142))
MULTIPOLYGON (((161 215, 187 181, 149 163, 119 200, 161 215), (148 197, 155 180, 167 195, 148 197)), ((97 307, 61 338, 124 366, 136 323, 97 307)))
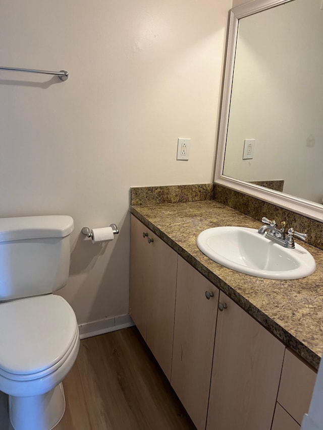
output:
POLYGON ((298 231, 295 231, 293 227, 288 229, 286 236, 284 232, 286 226, 285 221, 281 223, 282 227, 280 230, 277 228, 277 222, 275 220, 270 221, 268 218, 263 217, 261 222, 265 225, 262 225, 259 228, 258 233, 264 235, 267 239, 278 243, 284 248, 295 248, 294 236, 301 240, 306 239, 307 234, 299 233, 298 231))

